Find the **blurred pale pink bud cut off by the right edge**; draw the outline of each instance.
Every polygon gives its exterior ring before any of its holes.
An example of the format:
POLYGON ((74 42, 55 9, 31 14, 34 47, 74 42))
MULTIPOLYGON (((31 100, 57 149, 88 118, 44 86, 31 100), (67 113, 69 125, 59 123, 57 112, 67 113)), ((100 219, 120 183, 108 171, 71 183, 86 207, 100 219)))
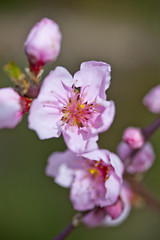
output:
POLYGON ((143 99, 144 105, 153 113, 160 113, 160 85, 154 87, 143 99))

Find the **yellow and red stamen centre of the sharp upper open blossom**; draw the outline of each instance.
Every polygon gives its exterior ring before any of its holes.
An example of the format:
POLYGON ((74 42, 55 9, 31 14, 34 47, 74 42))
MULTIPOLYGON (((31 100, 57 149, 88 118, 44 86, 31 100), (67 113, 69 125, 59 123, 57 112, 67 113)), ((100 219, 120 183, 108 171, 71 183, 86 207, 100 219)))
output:
POLYGON ((62 109, 62 113, 61 120, 64 123, 82 128, 92 125, 92 118, 97 110, 93 103, 84 102, 80 92, 74 88, 67 105, 62 109))

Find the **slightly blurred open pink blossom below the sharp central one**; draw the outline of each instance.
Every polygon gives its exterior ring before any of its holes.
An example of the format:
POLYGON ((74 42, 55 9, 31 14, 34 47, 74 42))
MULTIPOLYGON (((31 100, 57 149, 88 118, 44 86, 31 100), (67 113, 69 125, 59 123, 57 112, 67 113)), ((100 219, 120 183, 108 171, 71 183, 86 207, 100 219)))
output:
POLYGON ((116 203, 122 184, 123 164, 114 153, 94 150, 76 156, 67 150, 53 153, 46 174, 63 187, 70 187, 70 199, 78 211, 116 203))

